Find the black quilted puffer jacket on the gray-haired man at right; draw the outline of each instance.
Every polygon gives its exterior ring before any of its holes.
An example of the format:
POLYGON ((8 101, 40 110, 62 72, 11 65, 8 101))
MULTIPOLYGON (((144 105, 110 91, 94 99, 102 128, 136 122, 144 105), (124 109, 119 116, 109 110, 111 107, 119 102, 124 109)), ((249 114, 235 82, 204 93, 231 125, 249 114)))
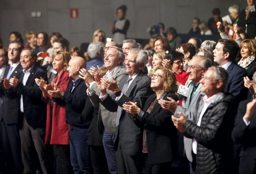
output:
POLYGON ((211 103, 197 126, 204 101, 200 101, 196 123, 186 121, 186 133, 197 140, 196 172, 225 173, 229 171, 233 144, 231 131, 234 126, 234 97, 224 95, 211 103))

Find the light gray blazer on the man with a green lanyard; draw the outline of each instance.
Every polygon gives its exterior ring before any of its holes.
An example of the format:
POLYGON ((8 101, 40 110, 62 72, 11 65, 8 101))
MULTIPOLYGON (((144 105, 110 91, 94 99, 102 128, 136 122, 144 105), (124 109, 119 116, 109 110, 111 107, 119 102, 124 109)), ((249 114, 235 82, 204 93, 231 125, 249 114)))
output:
MULTIPOLYGON (((182 108, 181 106, 178 106, 174 115, 177 114, 177 112, 182 112, 185 117, 188 119, 188 120, 191 120, 191 121, 194 121, 195 123, 197 118, 196 118, 196 115, 197 115, 197 112, 198 112, 198 107, 199 107, 199 103, 200 103, 200 100, 202 97, 204 97, 204 93, 200 91, 200 89, 197 91, 197 93, 195 94, 195 96, 192 98, 192 100, 190 101, 190 97, 191 97, 191 92, 192 92, 192 87, 189 88, 188 90, 188 100, 187 100, 187 103, 185 105, 185 108, 182 108), (190 101, 190 104, 189 104, 189 101, 190 101), (187 110, 187 111, 186 111, 187 110), (191 114, 188 114, 188 110, 192 113, 194 113, 194 115, 191 115, 191 114)), ((185 149, 185 153, 186 153, 186 156, 188 158, 188 160, 190 162, 192 162, 192 141, 193 139, 192 138, 189 138, 189 136, 185 135, 184 136, 184 149, 185 149)))

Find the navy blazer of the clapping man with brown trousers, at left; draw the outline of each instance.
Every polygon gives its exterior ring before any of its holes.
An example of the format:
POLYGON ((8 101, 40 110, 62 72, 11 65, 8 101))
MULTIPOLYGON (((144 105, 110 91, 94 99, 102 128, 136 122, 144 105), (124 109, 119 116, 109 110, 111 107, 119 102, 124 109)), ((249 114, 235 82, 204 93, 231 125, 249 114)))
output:
POLYGON ((20 83, 16 88, 10 88, 6 91, 8 98, 16 98, 18 96, 19 111, 20 111, 20 97, 23 97, 24 116, 28 124, 33 128, 45 127, 46 125, 46 103, 42 101, 42 91, 35 82, 35 78, 44 78, 47 81, 46 73, 43 69, 34 66, 26 85, 23 85, 24 77, 23 71, 18 72, 17 78, 20 83))

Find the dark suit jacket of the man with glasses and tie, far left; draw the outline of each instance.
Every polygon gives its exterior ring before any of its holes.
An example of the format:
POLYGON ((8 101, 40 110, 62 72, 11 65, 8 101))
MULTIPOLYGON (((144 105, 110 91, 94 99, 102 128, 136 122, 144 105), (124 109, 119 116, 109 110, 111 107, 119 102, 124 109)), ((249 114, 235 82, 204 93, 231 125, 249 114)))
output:
MULTIPOLYGON (((7 67, 4 71, 3 79, 6 78, 9 72, 10 66, 7 67)), ((19 64, 12 72, 10 77, 17 76, 18 72, 23 68, 19 64)), ((18 115, 19 115, 19 104, 18 96, 14 98, 8 98, 4 89, 4 81, 0 83, 0 91, 2 96, 2 104, 0 108, 0 120, 4 121, 6 124, 18 124, 18 115)))

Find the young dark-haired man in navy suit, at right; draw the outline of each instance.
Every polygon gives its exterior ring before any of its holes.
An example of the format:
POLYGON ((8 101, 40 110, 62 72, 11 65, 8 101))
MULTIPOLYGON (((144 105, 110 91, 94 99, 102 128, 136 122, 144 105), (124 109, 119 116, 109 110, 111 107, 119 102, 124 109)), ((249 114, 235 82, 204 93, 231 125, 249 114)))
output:
POLYGON ((214 62, 228 72, 225 92, 235 96, 238 103, 247 98, 247 89, 244 87, 244 77, 247 76, 247 73, 244 68, 234 62, 239 50, 240 48, 234 40, 220 39, 212 51, 214 62))

